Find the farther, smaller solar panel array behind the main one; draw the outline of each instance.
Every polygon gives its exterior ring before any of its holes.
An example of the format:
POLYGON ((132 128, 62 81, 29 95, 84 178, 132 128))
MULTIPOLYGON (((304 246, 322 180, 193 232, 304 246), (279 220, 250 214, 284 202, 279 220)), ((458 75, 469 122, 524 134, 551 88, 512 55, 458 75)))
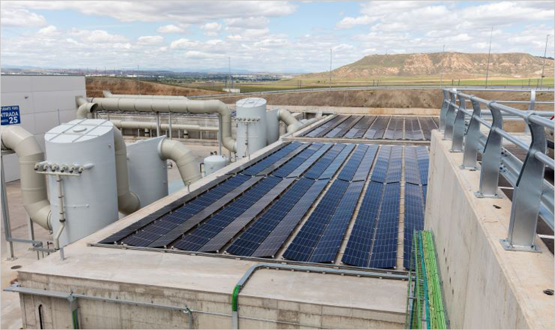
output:
POLYGON ((436 128, 438 128, 438 125, 435 117, 348 116, 340 114, 301 136, 335 139, 429 141, 431 131, 436 128))

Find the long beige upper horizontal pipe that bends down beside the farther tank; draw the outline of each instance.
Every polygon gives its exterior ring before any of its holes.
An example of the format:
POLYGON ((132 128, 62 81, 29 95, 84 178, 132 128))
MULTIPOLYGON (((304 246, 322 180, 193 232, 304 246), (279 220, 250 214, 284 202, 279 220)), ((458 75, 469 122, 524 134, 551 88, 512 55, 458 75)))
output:
POLYGON ((98 110, 136 111, 136 112, 191 112, 194 114, 219 114, 221 118, 222 144, 231 152, 237 150, 236 141, 231 134, 231 112, 225 103, 218 100, 191 101, 164 100, 154 98, 91 98, 98 104, 98 110))

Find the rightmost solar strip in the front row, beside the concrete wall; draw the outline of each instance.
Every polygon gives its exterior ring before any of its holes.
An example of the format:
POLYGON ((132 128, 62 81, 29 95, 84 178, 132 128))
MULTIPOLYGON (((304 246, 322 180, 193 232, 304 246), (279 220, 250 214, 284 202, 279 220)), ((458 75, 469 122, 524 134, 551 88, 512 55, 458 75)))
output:
POLYGON ((404 186, 404 233, 403 266, 409 268, 412 238, 415 230, 424 229, 424 205, 422 189, 419 185, 407 183, 404 186))

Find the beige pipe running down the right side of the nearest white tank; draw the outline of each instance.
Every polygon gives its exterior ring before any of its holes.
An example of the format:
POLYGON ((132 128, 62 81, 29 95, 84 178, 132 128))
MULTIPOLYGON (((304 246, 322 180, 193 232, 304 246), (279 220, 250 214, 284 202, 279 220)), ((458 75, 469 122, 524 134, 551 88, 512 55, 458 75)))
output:
POLYGON ((114 151, 116 155, 117 205, 122 214, 128 215, 141 207, 135 193, 129 190, 129 173, 127 169, 127 147, 121 132, 114 128, 114 151))

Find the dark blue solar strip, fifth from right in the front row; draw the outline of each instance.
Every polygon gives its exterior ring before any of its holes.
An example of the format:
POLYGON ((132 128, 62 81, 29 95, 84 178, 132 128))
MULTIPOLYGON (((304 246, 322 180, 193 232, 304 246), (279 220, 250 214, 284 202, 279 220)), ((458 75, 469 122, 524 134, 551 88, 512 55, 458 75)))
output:
POLYGON ((330 222, 348 186, 348 182, 341 180, 335 180, 332 183, 330 189, 326 191, 305 224, 302 225, 298 234, 289 244, 289 247, 283 254, 284 258, 309 261, 314 248, 316 248, 316 244, 318 244, 327 223, 330 222))

